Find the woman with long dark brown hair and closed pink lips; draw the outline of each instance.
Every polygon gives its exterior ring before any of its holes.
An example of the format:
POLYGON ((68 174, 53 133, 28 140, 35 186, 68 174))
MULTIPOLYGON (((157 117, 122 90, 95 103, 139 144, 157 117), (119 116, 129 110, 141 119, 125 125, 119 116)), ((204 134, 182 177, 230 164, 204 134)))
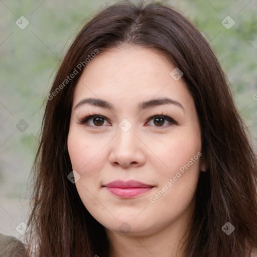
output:
POLYGON ((216 57, 182 15, 105 8, 47 98, 31 255, 257 256, 256 155, 216 57))

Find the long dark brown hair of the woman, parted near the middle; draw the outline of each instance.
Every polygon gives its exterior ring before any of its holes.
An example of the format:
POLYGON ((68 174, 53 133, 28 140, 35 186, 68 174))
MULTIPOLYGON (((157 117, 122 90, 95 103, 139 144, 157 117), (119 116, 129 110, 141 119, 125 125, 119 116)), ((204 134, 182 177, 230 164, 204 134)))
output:
POLYGON ((203 36, 177 11, 157 3, 104 8, 68 49, 48 95, 34 163, 30 247, 38 257, 109 256, 104 227, 67 179, 67 137, 73 91, 92 53, 124 43, 164 53, 183 72, 198 112, 207 172, 199 178, 184 256, 249 256, 257 247, 257 158, 247 128, 203 36), (222 231, 226 222, 235 227, 230 235, 222 231))

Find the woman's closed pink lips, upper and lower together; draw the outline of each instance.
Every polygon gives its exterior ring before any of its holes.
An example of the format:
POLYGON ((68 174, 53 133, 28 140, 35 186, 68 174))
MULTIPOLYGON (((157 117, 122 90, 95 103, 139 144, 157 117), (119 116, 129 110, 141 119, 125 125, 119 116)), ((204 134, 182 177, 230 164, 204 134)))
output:
POLYGON ((112 194, 123 198, 132 198, 146 193, 153 188, 153 186, 137 180, 115 180, 103 186, 112 194))

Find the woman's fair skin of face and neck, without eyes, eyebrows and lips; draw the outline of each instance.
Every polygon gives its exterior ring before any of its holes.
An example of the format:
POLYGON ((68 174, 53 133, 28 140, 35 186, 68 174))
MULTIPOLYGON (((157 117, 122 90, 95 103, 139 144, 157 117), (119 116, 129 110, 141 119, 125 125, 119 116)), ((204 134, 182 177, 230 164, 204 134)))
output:
POLYGON ((171 77, 174 68, 155 50, 123 45, 91 60, 74 91, 68 151, 77 172, 76 188, 85 207, 105 227, 112 257, 182 256, 179 242, 192 217, 204 162, 195 160, 167 186, 201 152, 202 145, 193 98, 183 77, 178 81, 171 77), (115 109, 89 104, 75 108, 87 97, 109 101, 115 109), (160 97, 172 98, 183 108, 163 104, 138 111, 141 102, 160 97), (178 124, 148 120, 162 112, 178 124), (88 126, 79 124, 81 118, 94 113, 106 119, 100 125, 93 118, 88 126), (124 118, 132 125, 126 132, 119 127, 124 118), (134 198, 120 198, 102 187, 116 179, 134 179, 154 187, 134 198), (151 202, 165 185, 168 189, 151 202))

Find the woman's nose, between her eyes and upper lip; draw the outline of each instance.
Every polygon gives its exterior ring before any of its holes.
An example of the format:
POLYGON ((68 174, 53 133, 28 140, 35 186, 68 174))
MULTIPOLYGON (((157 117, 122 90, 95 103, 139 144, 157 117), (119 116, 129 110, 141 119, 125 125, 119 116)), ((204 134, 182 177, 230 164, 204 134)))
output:
POLYGON ((113 166, 140 167, 145 164, 145 146, 135 134, 133 127, 122 131, 117 127, 117 135, 112 140, 109 163, 113 166))

